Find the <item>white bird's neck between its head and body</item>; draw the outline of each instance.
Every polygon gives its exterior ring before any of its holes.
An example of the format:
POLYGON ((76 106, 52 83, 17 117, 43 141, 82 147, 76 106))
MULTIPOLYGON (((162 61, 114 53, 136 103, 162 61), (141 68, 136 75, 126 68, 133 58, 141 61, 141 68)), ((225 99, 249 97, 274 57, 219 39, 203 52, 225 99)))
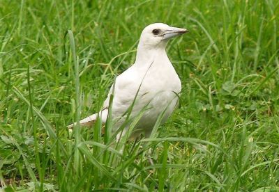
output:
POLYGON ((167 57, 165 51, 165 45, 158 45, 157 47, 151 47, 149 45, 137 46, 137 56, 135 63, 139 65, 149 65, 151 62, 156 60, 156 58, 167 57))

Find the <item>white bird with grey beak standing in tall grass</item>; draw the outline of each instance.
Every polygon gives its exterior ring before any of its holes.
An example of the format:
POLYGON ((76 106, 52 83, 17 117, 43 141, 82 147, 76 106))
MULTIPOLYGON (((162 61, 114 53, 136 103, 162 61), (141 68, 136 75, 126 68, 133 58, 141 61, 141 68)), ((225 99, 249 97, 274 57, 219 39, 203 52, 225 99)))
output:
MULTIPOLYGON (((80 126, 89 126, 97 116, 103 123, 107 120, 110 96, 112 100, 113 130, 116 131, 129 118, 142 115, 135 125, 131 137, 140 134, 149 137, 159 115, 163 113, 161 123, 165 122, 175 109, 181 92, 181 81, 172 63, 167 57, 165 47, 170 38, 188 32, 187 29, 155 23, 146 26, 140 35, 135 63, 114 81, 110 93, 103 104, 103 110, 80 120, 80 126), (141 114, 140 114, 141 113, 141 114)), ((77 123, 68 125, 74 127, 77 123)), ((128 126, 116 137, 119 139, 128 130, 128 126)))

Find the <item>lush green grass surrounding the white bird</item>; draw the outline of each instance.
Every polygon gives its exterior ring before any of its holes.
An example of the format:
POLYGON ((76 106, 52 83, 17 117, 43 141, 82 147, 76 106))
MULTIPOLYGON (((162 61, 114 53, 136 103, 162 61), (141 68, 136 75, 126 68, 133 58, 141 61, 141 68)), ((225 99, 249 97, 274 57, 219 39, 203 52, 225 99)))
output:
POLYGON ((1 188, 279 191, 278 15, 276 0, 1 1, 1 188), (172 118, 136 143, 100 122, 69 133, 153 22, 190 31, 167 47, 183 84, 172 118))

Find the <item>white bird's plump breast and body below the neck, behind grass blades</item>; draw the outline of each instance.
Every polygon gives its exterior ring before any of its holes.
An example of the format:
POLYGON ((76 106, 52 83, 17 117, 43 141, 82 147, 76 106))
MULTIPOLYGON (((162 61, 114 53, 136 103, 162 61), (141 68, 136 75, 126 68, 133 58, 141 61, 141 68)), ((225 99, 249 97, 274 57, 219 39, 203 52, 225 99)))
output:
MULTIPOLYGON (((113 118, 117 122, 115 127, 120 127, 123 123, 123 113, 133 104, 135 95, 137 99, 130 117, 135 118, 148 104, 136 126, 137 129, 144 130, 146 136, 151 133, 160 113, 164 111, 161 123, 172 114, 178 100, 177 94, 181 91, 181 81, 168 58, 164 61, 165 63, 154 61, 153 65, 146 69, 133 65, 128 70, 128 75, 123 73, 116 79, 112 107, 113 118)), ((141 132, 135 133, 134 136, 141 132)))

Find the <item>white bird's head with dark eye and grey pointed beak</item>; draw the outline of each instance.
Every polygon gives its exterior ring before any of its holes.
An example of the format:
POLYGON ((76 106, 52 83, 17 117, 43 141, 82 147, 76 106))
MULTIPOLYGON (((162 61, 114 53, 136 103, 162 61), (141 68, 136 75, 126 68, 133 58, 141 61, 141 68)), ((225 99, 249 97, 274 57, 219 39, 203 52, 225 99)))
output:
POLYGON ((187 29, 168 26, 163 23, 150 24, 142 31, 139 44, 148 49, 165 47, 169 39, 187 32, 187 29))

